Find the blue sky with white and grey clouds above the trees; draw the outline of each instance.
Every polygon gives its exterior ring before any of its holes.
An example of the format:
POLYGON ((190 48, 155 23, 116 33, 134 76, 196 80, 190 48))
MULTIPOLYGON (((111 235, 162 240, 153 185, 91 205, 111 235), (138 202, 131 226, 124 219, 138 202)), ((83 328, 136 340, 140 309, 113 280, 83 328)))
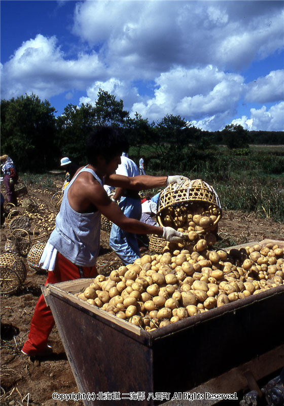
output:
POLYGON ((282 1, 1 0, 1 97, 284 130, 282 1))

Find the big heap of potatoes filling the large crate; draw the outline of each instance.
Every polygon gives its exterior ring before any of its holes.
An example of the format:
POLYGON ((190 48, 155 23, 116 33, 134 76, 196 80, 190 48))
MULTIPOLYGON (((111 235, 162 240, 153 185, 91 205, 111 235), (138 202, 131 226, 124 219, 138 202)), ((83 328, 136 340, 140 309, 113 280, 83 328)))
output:
POLYGON ((98 275, 80 299, 147 331, 258 294, 284 282, 283 249, 267 244, 144 255, 109 277, 98 275))

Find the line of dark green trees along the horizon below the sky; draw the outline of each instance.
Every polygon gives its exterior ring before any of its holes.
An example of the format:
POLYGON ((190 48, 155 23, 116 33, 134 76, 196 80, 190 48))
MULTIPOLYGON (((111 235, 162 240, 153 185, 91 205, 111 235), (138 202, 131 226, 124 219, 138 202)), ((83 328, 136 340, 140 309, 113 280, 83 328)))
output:
POLYGON ((222 131, 202 131, 172 114, 157 122, 139 113, 131 118, 123 100, 102 89, 94 105, 68 104, 60 116, 55 113, 48 100, 35 94, 1 101, 1 153, 10 155, 20 172, 45 172, 58 167, 62 156, 85 163, 86 137, 98 125, 120 127, 135 157, 147 150, 152 169, 159 171, 182 169, 192 148, 204 152, 212 145, 244 149, 248 144, 284 144, 284 131, 247 131, 233 124, 222 131))

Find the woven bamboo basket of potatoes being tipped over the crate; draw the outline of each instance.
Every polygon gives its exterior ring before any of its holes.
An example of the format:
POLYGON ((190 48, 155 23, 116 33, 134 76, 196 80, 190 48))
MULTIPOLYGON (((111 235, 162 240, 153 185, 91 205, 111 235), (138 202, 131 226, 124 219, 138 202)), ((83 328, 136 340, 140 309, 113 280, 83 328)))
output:
POLYGON ((170 226, 187 234, 187 239, 168 248, 193 251, 200 239, 208 246, 216 243, 218 222, 222 216, 219 197, 212 186, 201 179, 186 180, 166 187, 158 202, 157 219, 160 226, 170 226))

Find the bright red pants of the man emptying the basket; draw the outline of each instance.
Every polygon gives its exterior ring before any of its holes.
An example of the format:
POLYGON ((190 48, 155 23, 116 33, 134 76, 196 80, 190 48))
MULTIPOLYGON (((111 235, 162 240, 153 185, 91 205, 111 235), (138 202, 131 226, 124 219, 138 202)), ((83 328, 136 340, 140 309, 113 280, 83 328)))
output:
MULTIPOLYGON (((94 278, 97 275, 95 266, 83 266, 83 272, 85 278, 94 278)), ((45 285, 79 278, 78 266, 74 265, 58 252, 55 268, 53 271, 48 272, 45 285)), ((27 355, 37 355, 37 353, 42 352, 47 346, 47 340, 54 324, 55 322, 50 307, 46 306, 44 296, 41 295, 35 306, 30 323, 28 340, 25 342, 22 351, 27 355)))

